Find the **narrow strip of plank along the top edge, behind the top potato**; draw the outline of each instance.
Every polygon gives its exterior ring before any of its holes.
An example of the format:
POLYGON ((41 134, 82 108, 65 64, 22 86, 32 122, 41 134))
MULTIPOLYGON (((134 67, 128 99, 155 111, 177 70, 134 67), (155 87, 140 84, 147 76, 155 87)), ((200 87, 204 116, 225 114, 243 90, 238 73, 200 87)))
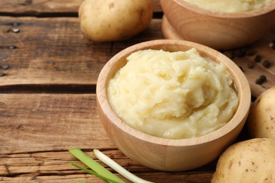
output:
MULTIPOLYGON (((1 0, 0 14, 78 13, 83 0, 1 0)), ((161 12, 159 0, 152 0, 154 12, 161 12)))

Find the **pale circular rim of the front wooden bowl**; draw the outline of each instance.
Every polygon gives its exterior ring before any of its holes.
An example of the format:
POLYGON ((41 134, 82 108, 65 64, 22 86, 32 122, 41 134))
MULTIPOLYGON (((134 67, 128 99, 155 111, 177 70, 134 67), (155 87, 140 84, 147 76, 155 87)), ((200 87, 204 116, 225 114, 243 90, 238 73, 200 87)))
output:
POLYGON ((214 141, 215 139, 223 137, 224 135, 230 133, 238 125, 240 125, 240 123, 243 120, 245 120, 250 108, 250 101, 250 85, 248 84, 245 75, 240 70, 238 65, 236 65, 236 63, 233 63, 233 61, 231 61, 231 59, 229 59, 228 57, 224 56, 224 54, 214 49, 211 49, 208 46, 184 40, 159 39, 129 46, 128 48, 123 49, 122 51, 117 53, 113 58, 111 58, 106 63, 106 65, 104 65, 102 71, 99 73, 99 77, 97 80, 97 102, 99 103, 98 107, 102 109, 104 115, 106 115, 116 127, 123 130, 130 136, 141 139, 143 141, 150 142, 152 144, 159 144, 162 146, 194 146, 197 144, 204 144, 209 141, 214 141), (218 58, 218 60, 215 60, 215 62, 223 62, 226 65, 226 68, 230 66, 230 68, 228 68, 228 72, 230 72, 234 82, 236 82, 240 102, 238 104, 238 109, 235 115, 233 115, 233 118, 226 125, 219 128, 218 130, 215 130, 214 132, 204 134, 200 137, 192 137, 188 139, 164 139, 161 137, 154 137, 152 135, 145 134, 144 132, 135 130, 133 127, 130 127, 120 118, 118 118, 116 113, 114 113, 106 95, 106 86, 107 82, 109 81, 108 78, 110 79, 114 75, 109 74, 110 69, 113 68, 112 65, 119 63, 121 59, 126 58, 130 55, 130 53, 142 49, 150 49, 152 46, 161 46, 164 44, 171 46, 183 46, 186 48, 186 50, 190 48, 195 48, 197 49, 197 51, 199 51, 199 53, 204 54, 205 56, 218 58))

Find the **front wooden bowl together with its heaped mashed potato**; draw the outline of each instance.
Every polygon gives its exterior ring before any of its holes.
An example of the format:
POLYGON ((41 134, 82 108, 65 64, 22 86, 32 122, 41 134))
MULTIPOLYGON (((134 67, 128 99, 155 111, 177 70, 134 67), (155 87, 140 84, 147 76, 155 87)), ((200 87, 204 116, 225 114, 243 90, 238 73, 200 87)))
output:
POLYGON ((183 40, 130 46, 97 80, 106 134, 130 159, 156 170, 191 170, 219 157, 242 130, 250 98, 238 65, 183 40))

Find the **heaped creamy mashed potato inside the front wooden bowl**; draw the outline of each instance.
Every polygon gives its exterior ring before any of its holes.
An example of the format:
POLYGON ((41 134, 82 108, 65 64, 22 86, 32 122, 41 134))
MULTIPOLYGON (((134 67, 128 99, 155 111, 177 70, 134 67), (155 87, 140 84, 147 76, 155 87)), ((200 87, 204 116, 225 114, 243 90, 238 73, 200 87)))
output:
POLYGON ((226 67, 196 49, 132 53, 109 81, 107 95, 123 122, 168 139, 213 132, 231 120, 238 106, 226 67))

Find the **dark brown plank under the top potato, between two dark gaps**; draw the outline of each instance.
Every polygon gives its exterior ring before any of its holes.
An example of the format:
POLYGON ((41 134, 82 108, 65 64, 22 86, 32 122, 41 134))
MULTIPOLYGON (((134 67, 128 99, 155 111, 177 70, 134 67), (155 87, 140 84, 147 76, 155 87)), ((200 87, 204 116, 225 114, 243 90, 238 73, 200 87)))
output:
POLYGON ((96 43, 83 37, 78 18, 9 18, 0 23, 0 86, 95 84, 104 64, 127 46, 161 39, 161 20, 126 42, 96 43), (14 26, 13 23, 18 25, 14 26), (12 30, 19 28, 20 32, 12 30))

